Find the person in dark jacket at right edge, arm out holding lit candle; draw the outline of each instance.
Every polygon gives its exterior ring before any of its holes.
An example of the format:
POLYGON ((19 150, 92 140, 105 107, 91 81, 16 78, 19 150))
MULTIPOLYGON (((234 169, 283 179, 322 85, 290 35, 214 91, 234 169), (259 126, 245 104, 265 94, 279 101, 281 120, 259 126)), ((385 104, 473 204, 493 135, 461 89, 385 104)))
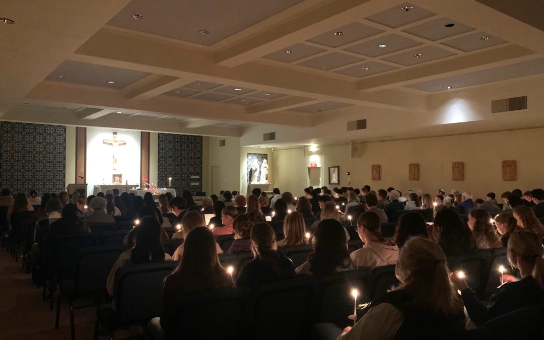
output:
MULTIPOLYGON (((544 302, 543 254, 542 240, 539 236, 527 231, 512 233, 508 240, 508 261, 512 267, 520 270, 522 279, 504 283, 497 288, 487 306, 478 300, 465 280, 452 275, 456 289, 461 290, 463 302, 472 322, 481 326, 487 320, 506 313, 542 304, 544 302)), ((499 283, 497 282, 497 285, 499 283)))

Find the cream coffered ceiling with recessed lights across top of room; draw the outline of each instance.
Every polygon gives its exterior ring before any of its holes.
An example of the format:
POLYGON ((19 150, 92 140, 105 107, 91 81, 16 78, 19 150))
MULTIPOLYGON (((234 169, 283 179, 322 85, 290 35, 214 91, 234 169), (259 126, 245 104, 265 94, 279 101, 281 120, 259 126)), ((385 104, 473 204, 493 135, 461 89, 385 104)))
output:
POLYGON ((544 73, 537 1, 7 2, 2 120, 241 136, 544 73))

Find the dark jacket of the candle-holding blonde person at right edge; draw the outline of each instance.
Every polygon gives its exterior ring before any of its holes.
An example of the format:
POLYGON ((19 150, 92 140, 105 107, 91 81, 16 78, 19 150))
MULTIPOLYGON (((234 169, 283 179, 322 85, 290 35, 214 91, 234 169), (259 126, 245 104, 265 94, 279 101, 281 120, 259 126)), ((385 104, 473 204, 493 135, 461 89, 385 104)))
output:
POLYGON ((463 290, 461 296, 468 316, 477 326, 506 313, 544 302, 544 290, 537 285, 533 276, 524 277, 517 282, 505 283, 497 288, 491 295, 491 303, 487 307, 478 300, 476 293, 471 289, 463 290))

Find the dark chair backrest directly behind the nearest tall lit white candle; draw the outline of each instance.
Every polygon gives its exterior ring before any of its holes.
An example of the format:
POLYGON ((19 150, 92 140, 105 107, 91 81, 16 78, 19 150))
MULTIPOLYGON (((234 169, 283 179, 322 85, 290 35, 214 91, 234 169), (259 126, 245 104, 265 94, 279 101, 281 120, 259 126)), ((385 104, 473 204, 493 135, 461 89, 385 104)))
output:
POLYGON ((348 319, 353 314, 355 302, 351 290, 357 289, 360 294, 357 303, 368 302, 371 275, 372 271, 362 269, 318 276, 317 322, 330 322, 342 329, 353 325, 348 319))

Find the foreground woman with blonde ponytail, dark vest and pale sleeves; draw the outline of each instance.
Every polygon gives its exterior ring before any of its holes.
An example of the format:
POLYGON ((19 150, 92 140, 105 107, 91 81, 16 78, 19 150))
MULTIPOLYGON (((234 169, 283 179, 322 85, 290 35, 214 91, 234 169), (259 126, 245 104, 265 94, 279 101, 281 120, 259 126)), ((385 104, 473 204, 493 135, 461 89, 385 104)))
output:
POLYGON ((463 304, 440 246, 422 237, 407 240, 395 274, 399 285, 374 299, 338 339, 462 338, 463 304))

